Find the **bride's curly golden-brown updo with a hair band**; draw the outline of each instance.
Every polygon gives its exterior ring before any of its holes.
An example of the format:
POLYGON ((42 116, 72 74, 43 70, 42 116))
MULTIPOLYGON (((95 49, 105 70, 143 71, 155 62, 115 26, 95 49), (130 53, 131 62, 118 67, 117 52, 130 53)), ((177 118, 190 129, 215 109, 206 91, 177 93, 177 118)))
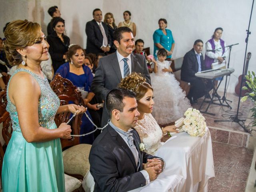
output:
POLYGON ((152 86, 146 82, 146 78, 136 72, 132 72, 123 78, 118 87, 133 91, 136 94, 137 101, 144 97, 149 89, 153 91, 152 86))

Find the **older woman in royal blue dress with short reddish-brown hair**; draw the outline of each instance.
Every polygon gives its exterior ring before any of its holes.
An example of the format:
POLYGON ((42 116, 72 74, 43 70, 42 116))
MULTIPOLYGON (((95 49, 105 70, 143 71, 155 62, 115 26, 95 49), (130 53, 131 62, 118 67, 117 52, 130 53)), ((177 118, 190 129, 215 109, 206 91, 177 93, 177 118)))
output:
MULTIPOLYGON (((84 64, 84 57, 85 52, 81 46, 71 45, 70 48, 68 48, 67 52, 67 59, 69 62, 61 65, 56 71, 56 73, 59 73, 63 78, 67 78, 68 80, 70 80, 74 84, 74 86, 78 88, 78 90, 82 90, 82 97, 84 92, 88 93, 88 96, 84 95, 83 97, 86 106, 96 111, 99 110, 99 108, 97 108, 97 104, 92 105, 89 102, 87 102, 88 100, 90 101, 94 97, 94 93, 91 92, 90 89, 92 85, 93 75, 90 68, 84 64)), ((89 116, 90 119, 92 119, 88 111, 86 111, 86 114, 89 116)), ((85 134, 93 130, 94 126, 84 114, 82 116, 80 134, 85 134)), ((92 144, 93 141, 93 134, 80 137, 80 143, 92 144)))

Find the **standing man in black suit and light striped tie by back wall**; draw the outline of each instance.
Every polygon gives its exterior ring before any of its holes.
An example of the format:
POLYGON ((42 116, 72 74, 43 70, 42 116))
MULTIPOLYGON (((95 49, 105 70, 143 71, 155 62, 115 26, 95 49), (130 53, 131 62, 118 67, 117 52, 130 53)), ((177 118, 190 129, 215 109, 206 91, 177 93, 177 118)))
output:
POLYGON ((108 26, 102 22, 100 9, 93 10, 93 20, 86 23, 85 33, 87 35, 86 53, 106 53, 111 47, 111 37, 108 26))

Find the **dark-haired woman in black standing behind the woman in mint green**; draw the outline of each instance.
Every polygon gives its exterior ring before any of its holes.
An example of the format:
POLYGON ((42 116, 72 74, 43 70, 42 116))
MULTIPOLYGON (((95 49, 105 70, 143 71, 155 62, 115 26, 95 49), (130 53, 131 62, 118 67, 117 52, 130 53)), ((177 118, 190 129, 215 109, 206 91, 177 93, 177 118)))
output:
POLYGON ((52 58, 52 66, 54 72, 65 63, 66 52, 70 44, 68 36, 64 35, 65 32, 65 21, 61 17, 54 17, 51 20, 52 28, 54 33, 47 36, 47 42, 49 43, 49 53, 52 58))

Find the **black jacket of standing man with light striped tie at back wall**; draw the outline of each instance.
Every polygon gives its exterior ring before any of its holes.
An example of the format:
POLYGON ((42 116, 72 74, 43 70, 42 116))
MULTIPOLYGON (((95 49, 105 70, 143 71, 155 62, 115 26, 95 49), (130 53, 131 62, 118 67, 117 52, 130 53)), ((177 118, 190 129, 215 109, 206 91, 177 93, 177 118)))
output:
MULTIPOLYGON (((101 22, 101 24, 108 38, 108 44, 111 46, 112 42, 108 32, 108 26, 104 22, 101 22)), ((100 49, 103 43, 103 36, 101 34, 99 25, 94 19, 86 23, 85 33, 87 35, 86 53, 103 53, 103 51, 100 49)))

